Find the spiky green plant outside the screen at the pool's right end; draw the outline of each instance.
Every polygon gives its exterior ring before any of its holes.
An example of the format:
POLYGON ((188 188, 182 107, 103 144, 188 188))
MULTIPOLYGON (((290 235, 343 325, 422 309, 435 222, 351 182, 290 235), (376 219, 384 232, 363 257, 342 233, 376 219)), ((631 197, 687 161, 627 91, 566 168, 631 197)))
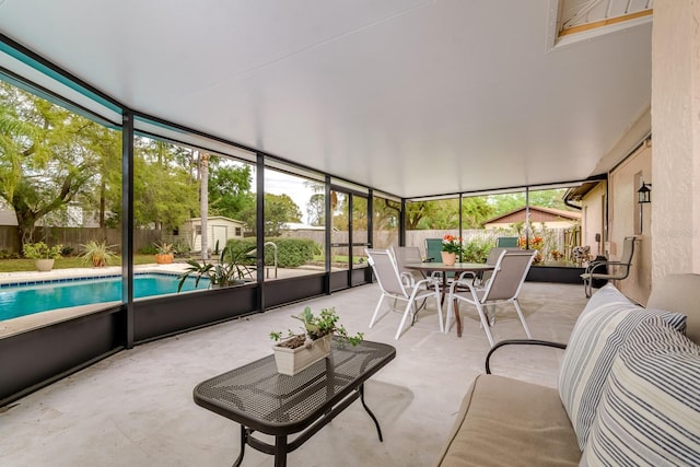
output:
POLYGON ((226 245, 221 250, 221 256, 217 264, 189 259, 186 261, 188 267, 178 276, 177 291, 182 290, 185 281, 190 276, 196 278, 195 288, 199 285, 199 281, 202 278, 209 279, 209 288, 243 284, 246 276, 250 276, 250 269, 245 265, 248 259, 248 255, 245 252, 233 248, 232 245, 226 245))

